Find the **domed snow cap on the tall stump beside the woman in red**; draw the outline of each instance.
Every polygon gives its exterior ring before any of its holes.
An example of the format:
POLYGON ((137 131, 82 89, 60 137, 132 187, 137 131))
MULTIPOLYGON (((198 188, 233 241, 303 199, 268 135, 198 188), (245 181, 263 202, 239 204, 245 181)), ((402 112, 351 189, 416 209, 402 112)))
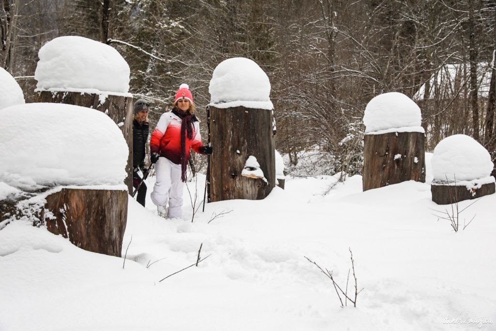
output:
POLYGON ((269 77, 255 62, 246 58, 221 62, 212 74, 208 92, 210 105, 216 108, 274 108, 269 97, 269 77))

